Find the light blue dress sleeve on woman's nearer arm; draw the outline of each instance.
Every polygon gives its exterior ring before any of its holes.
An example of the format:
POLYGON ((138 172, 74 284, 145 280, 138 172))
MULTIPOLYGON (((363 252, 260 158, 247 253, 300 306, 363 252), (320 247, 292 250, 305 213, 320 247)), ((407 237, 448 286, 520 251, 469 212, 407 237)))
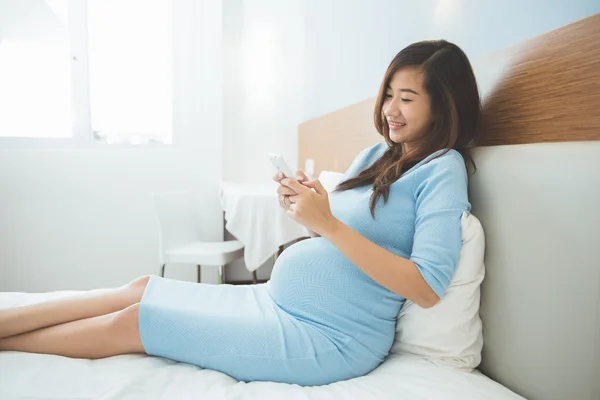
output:
POLYGON ((460 254, 461 216, 470 211, 467 172, 458 153, 448 153, 415 171, 415 236, 410 260, 441 299, 460 254))

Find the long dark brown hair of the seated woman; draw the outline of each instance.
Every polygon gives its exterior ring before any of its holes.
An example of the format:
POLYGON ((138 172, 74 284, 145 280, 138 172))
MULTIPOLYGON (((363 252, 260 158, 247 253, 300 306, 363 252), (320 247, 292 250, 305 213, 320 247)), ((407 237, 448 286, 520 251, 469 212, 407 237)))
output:
POLYGON ((384 203, 387 202, 390 185, 410 166, 438 150, 446 149, 441 156, 448 149, 455 149, 463 156, 467 169, 475 171, 469 150, 481 126, 481 101, 471 64, 455 44, 432 40, 413 43, 401 50, 385 72, 375 103, 374 119, 375 127, 385 138, 388 149, 371 167, 336 188, 343 191, 372 184, 374 190, 370 210, 373 218, 379 198, 383 196, 384 203), (428 134, 410 151, 390 139, 388 122, 383 115, 383 102, 390 80, 396 71, 408 66, 423 70, 423 88, 431 99, 428 134))

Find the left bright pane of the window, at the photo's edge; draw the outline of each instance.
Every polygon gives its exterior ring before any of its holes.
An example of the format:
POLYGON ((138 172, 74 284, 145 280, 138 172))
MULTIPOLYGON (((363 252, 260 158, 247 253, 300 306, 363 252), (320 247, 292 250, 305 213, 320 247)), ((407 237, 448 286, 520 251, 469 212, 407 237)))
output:
POLYGON ((0 136, 71 137, 67 0, 1 4, 0 136))

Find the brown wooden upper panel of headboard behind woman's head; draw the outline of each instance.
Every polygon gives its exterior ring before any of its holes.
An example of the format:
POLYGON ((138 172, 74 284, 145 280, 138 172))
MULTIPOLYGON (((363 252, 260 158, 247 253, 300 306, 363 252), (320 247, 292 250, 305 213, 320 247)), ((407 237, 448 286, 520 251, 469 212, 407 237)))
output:
MULTIPOLYGON (((485 126, 478 145, 600 140, 600 14, 473 60, 485 126), (487 90, 486 90, 487 88, 487 90), (490 93, 485 93, 485 92, 490 93)), ((298 128, 298 165, 343 172, 375 130, 375 97, 298 128)))

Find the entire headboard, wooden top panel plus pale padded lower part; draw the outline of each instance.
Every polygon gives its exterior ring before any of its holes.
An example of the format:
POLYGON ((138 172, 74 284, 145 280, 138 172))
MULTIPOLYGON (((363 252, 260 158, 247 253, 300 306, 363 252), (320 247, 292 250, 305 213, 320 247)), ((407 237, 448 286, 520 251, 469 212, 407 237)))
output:
MULTIPOLYGON (((469 181, 486 237, 481 370, 527 399, 600 399, 600 14, 472 60, 485 130, 469 181)), ((375 99, 299 127, 299 165, 383 141, 375 99)))

